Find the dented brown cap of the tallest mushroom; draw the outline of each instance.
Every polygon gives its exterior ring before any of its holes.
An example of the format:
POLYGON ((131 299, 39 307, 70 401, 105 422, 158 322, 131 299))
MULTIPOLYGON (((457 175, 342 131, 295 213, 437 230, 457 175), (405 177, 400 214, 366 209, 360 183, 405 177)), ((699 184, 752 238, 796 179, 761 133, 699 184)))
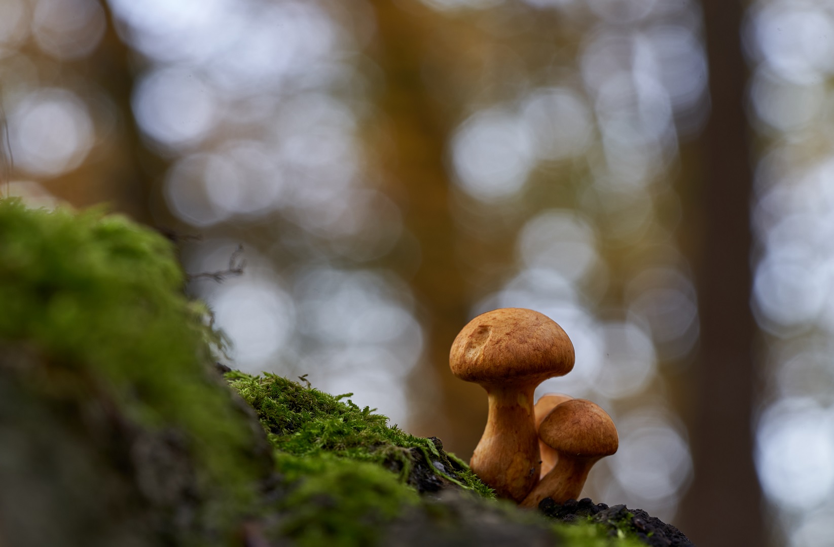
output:
POLYGON ((538 311, 500 308, 475 317, 455 338, 449 361, 461 380, 480 385, 538 384, 573 369, 574 348, 538 311))

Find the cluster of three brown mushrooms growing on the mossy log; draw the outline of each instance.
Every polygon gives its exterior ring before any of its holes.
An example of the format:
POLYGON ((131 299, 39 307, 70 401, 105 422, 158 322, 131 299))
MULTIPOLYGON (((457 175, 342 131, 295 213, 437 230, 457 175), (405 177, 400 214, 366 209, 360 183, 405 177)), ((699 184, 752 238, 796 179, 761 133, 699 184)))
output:
POLYGON ((452 373, 481 385, 489 401, 470 467, 499 497, 524 507, 575 499, 591 466, 616 452, 614 422, 590 400, 548 394, 533 405, 536 386, 569 373, 574 360, 565 331, 524 308, 481 314, 455 338, 452 373))

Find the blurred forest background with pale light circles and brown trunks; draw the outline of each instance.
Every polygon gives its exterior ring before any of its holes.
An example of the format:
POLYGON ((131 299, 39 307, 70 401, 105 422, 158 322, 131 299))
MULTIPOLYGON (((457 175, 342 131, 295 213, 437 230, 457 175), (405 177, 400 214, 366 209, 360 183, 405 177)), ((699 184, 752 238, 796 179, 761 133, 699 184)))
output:
POLYGON ((4 194, 179 236, 234 366, 469 458, 448 351, 529 307, 600 404, 585 495, 834 535, 834 4, 0 0, 4 194))

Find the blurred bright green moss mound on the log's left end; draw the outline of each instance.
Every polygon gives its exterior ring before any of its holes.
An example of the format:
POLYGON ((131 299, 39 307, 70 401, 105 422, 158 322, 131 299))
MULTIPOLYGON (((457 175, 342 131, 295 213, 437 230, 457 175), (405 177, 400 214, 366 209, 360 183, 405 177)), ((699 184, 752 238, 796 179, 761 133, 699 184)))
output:
POLYGON ((92 379, 134 423, 187 432, 201 494, 217 500, 206 518, 231 521, 257 495, 253 435, 205 373, 217 336, 182 286, 170 242, 123 216, 0 200, 0 345, 60 370, 52 390, 92 379))

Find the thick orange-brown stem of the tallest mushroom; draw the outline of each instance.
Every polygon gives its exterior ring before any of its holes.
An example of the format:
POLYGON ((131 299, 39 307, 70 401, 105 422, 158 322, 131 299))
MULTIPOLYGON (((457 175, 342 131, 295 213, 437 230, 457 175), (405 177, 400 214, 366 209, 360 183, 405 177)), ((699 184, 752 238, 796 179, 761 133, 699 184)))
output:
POLYGON ((490 414, 470 467, 502 498, 521 501, 539 479, 533 421, 535 385, 485 386, 490 414))

